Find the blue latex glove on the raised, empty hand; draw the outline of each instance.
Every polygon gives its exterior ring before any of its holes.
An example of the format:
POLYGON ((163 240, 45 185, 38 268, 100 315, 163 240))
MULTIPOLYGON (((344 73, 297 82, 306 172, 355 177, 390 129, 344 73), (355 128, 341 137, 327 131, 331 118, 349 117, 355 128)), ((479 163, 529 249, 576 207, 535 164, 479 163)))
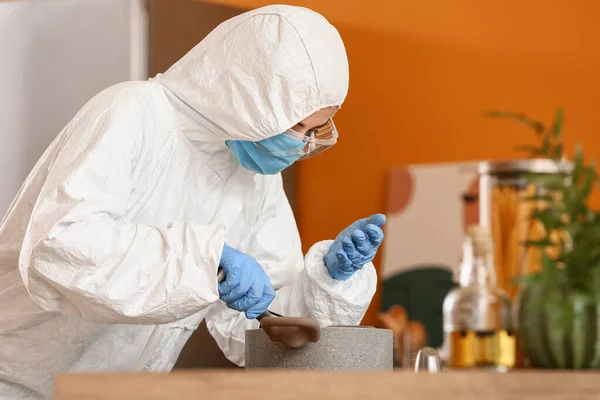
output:
POLYGON ((373 261, 383 241, 385 215, 359 219, 335 239, 323 261, 333 279, 345 281, 373 261))

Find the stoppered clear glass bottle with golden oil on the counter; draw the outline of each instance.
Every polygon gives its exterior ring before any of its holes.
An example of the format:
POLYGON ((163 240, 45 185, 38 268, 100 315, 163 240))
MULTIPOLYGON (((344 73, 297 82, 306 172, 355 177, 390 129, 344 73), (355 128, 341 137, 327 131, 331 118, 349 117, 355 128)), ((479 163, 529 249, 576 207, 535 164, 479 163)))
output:
POLYGON ((450 368, 514 367, 516 340, 508 294, 498 288, 492 236, 470 226, 463 243, 460 286, 444 299, 444 340, 450 368))

